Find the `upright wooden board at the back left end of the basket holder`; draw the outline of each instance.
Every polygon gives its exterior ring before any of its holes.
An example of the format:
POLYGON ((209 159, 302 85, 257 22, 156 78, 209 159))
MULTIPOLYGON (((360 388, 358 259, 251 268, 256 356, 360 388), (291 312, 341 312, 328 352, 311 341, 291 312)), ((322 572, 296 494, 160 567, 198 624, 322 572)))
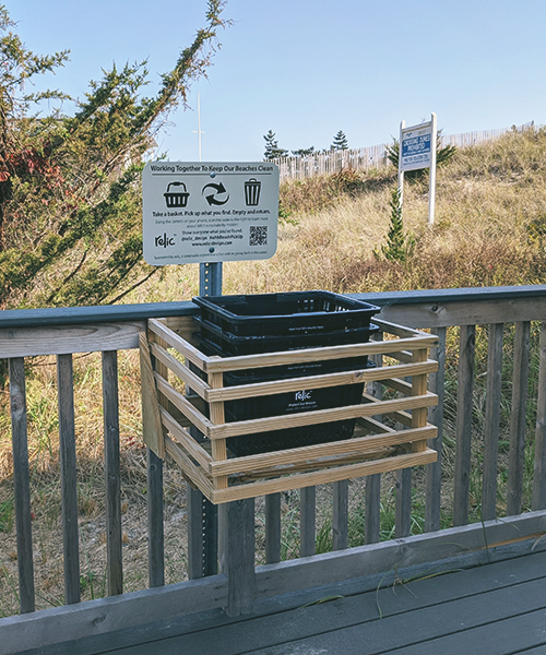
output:
POLYGON ((157 389, 154 380, 154 369, 150 356, 150 344, 145 332, 139 335, 140 374, 142 398, 142 433, 144 443, 159 458, 165 457, 162 418, 157 401, 157 389))

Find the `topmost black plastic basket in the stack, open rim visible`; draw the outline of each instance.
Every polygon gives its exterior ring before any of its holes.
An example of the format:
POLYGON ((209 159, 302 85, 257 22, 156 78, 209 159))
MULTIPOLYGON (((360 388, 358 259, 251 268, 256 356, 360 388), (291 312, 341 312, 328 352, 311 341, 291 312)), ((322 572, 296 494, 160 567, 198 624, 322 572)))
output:
POLYGON ((379 307, 330 291, 197 296, 201 318, 244 336, 292 335, 368 327, 379 307))

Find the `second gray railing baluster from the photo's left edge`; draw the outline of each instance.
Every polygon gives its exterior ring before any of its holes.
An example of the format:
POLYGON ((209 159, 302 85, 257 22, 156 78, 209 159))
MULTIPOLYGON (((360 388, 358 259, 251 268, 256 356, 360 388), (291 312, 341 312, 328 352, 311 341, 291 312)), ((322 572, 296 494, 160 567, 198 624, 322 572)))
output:
POLYGON ((75 468, 74 380, 72 355, 57 356, 59 451, 64 564, 64 603, 80 603, 80 543, 75 468))

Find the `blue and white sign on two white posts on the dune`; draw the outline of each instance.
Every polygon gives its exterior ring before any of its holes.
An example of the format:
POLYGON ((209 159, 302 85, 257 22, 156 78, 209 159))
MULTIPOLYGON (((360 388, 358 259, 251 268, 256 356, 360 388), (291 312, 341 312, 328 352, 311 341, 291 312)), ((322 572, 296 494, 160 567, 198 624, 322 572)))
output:
POLYGON ((429 168, 430 182, 428 194, 428 224, 435 222, 436 207, 436 145, 437 145, 437 117, 430 115, 430 121, 411 128, 405 127, 405 121, 400 123, 400 152, 399 152, 399 198, 402 207, 404 195, 404 171, 429 168))

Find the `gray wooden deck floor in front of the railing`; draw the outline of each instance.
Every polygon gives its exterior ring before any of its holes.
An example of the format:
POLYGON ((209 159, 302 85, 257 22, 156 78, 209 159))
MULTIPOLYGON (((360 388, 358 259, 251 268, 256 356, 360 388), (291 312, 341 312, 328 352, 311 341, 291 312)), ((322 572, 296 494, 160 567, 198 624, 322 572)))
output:
MULTIPOLYGON (((274 604, 276 603, 276 609, 274 604)), ((294 599, 292 599, 294 603, 294 599)), ((116 655, 511 655, 546 653, 546 552, 389 584, 261 616, 219 610, 63 644, 55 652, 116 655), (132 643, 133 645, 127 645, 132 643), (126 645, 123 645, 126 644, 126 645), (97 650, 98 648, 98 650, 97 650)), ((49 653, 35 651, 33 653, 49 653)))

